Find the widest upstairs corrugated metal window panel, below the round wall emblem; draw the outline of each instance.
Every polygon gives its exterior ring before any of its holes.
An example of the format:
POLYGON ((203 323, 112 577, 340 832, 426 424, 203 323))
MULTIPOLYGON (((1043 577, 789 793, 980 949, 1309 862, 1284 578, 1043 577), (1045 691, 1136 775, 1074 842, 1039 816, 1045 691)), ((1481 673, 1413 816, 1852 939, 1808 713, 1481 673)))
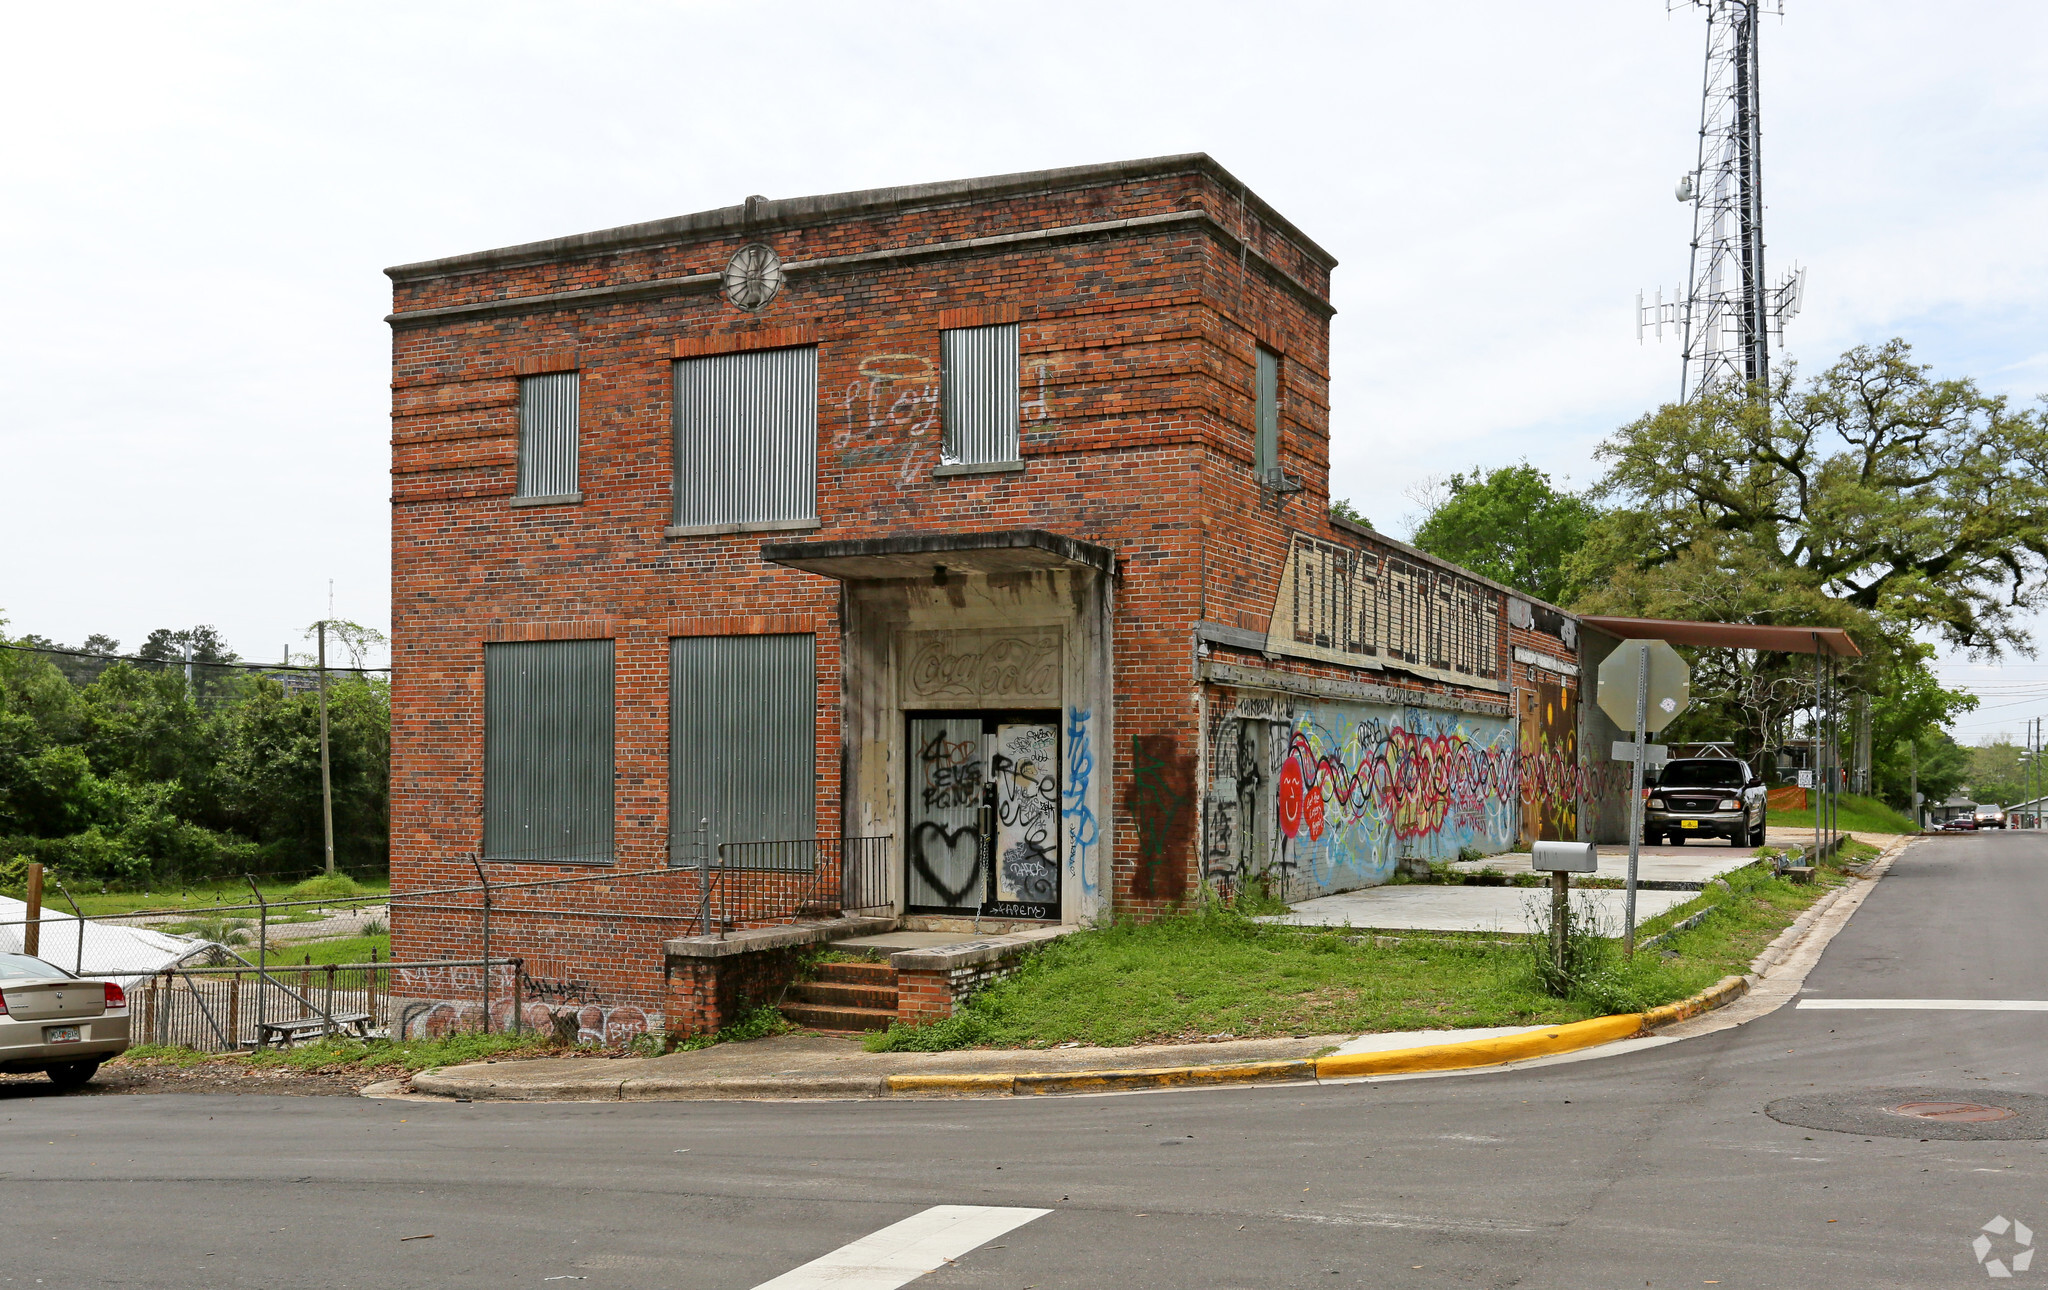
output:
POLYGON ((676 524, 817 516, 817 346, 676 362, 676 524))

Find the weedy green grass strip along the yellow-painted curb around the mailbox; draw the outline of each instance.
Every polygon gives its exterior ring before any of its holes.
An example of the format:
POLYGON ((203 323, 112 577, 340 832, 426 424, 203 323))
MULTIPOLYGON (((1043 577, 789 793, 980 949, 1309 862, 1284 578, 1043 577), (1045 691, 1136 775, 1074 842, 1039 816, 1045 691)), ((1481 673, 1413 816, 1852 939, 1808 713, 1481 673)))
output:
MULTIPOLYGON (((1876 854, 1851 844, 1841 860, 1876 854)), ((1149 923, 1112 923, 1053 942, 1024 969, 975 995, 956 1016, 897 1026, 872 1050, 967 1046, 1042 1048, 1061 1042, 1141 1044, 1464 1026, 1542 1026, 1640 1012, 1683 999, 1749 962, 1827 887, 1837 868, 1800 887, 1765 870, 1729 874, 1729 891, 1642 923, 1638 938, 1702 909, 1714 915, 1655 950, 1624 960, 1606 944, 1565 999, 1542 991, 1528 944, 1405 936, 1393 946, 1343 930, 1255 923, 1202 909, 1149 923)))

